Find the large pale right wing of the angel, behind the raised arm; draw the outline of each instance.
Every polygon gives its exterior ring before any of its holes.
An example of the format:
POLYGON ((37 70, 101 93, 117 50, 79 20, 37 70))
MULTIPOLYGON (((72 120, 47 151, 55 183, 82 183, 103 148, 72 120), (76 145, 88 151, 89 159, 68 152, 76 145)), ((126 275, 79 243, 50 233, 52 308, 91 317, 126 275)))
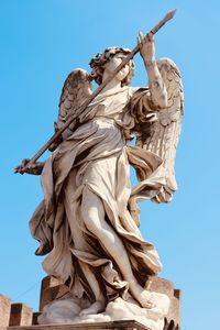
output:
MULTIPOLYGON (((153 200, 166 202, 177 189, 175 157, 182 129, 184 97, 180 73, 175 63, 169 58, 162 58, 157 66, 166 86, 168 105, 167 108, 155 111, 157 119, 152 124, 151 133, 144 139, 145 135, 141 132, 138 144, 163 161, 166 185, 163 187, 163 194, 160 193, 153 200)), ((144 132, 143 124, 140 129, 144 132)))

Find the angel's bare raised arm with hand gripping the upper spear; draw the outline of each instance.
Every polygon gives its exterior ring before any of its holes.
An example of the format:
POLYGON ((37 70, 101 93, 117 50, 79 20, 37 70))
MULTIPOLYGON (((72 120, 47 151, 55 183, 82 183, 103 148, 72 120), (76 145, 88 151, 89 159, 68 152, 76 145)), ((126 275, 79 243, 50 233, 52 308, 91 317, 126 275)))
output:
POLYGON ((155 59, 154 35, 140 33, 138 41, 148 76, 151 100, 156 108, 164 109, 167 107, 167 91, 155 59))

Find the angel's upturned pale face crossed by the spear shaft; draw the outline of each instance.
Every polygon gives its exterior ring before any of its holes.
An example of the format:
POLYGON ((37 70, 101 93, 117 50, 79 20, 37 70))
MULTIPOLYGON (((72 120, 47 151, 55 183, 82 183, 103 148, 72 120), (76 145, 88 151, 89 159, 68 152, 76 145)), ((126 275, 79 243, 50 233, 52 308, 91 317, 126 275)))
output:
MULTIPOLYGON (((110 75, 121 63, 122 59, 124 58, 124 54, 117 54, 110 61, 105 65, 105 74, 110 75)), ((127 64, 116 76, 116 78, 119 81, 122 81, 130 72, 129 64, 127 64)))

